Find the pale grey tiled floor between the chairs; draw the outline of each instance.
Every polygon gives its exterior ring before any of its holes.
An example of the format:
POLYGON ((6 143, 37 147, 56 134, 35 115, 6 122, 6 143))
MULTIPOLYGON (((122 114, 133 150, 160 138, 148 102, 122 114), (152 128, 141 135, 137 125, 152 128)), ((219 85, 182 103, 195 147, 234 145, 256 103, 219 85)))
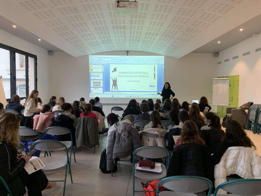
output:
MULTIPOLYGON (((247 135, 255 143, 259 154, 261 154, 261 138, 260 135, 254 135, 252 131, 246 130, 247 135)), ((132 195, 132 164, 129 162, 118 162, 118 171, 113 174, 103 174, 99 169, 100 154, 107 147, 107 137, 100 135, 100 147, 96 146, 96 152, 93 154, 94 148, 80 147, 76 149, 76 163, 72 159, 71 169, 73 183, 71 183, 70 175, 67 174, 66 191, 67 196, 131 196, 132 195)), ((52 156, 64 156, 65 152, 53 152, 52 156)), ((41 153, 43 157, 43 153, 41 153)), ((41 158, 40 157, 40 158, 41 158)), ((65 168, 54 171, 45 172, 49 180, 63 180, 65 168)), ((135 178, 135 190, 141 190, 141 183, 146 180, 135 178)), ((57 182, 57 186, 53 191, 45 192, 43 195, 62 195, 64 182, 57 182)), ((144 195, 143 193, 135 193, 136 195, 144 195)))

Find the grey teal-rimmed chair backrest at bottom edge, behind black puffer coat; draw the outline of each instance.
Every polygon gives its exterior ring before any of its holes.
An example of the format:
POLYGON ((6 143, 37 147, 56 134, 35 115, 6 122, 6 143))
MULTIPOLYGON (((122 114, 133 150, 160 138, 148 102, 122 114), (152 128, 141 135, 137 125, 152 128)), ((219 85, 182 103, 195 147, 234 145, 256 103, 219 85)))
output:
MULTIPOLYGON (((162 185, 163 187, 181 193, 199 193, 202 191, 209 190, 209 194, 211 194, 213 184, 212 182, 203 177, 198 176, 171 176, 162 179, 159 181, 157 186, 157 195, 159 194, 159 186, 162 185)), ((173 192, 173 193, 175 193, 173 192)), ((169 192, 171 196, 171 192, 169 192)))

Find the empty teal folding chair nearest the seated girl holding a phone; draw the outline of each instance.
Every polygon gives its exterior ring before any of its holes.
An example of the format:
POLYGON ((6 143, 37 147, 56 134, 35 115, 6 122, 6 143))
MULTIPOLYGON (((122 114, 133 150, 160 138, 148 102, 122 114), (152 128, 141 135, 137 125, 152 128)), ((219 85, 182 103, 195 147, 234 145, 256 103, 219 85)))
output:
MULTIPOLYGON (((66 145, 64 145, 62 142, 55 141, 55 140, 38 140, 32 144, 32 148, 35 148, 40 151, 52 151, 61 148, 64 148, 66 150, 66 156, 61 156, 61 157, 52 156, 52 157, 41 158, 41 160, 45 164, 45 168, 42 169, 44 171, 57 170, 65 166, 64 180, 55 180, 55 182, 64 182, 64 188, 63 188, 63 196, 64 196, 68 166, 69 166, 69 174, 71 176, 71 182, 73 183, 69 155, 68 155, 68 150, 66 145)), ((54 182, 54 181, 50 181, 50 182, 54 182)))

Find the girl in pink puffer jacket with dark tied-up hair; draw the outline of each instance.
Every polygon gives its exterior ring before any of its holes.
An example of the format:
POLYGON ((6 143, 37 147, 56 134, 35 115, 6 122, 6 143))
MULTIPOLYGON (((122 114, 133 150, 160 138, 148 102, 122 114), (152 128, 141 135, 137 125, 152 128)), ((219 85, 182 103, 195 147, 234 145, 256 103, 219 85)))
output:
POLYGON ((33 129, 44 132, 46 128, 51 126, 52 118, 54 118, 54 114, 51 112, 51 106, 44 105, 40 115, 35 115, 33 117, 33 129))

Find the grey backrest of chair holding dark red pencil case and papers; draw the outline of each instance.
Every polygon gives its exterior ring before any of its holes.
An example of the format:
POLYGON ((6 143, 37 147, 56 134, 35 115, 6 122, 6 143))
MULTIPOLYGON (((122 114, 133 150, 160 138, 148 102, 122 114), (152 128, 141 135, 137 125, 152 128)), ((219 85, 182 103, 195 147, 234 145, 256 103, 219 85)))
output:
POLYGON ((137 154, 140 157, 147 158, 162 158, 170 155, 170 152, 167 148, 160 146, 143 146, 136 149, 133 154, 137 154))

